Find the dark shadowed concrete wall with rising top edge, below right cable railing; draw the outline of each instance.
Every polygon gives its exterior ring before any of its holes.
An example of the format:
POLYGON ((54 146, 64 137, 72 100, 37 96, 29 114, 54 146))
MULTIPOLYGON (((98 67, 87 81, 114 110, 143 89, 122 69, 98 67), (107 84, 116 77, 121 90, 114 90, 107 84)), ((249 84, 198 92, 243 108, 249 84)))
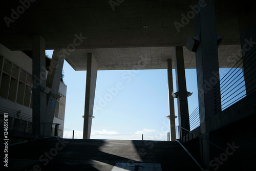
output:
MULTIPOLYGON (((219 164, 221 168, 219 170, 244 170, 244 167, 247 167, 248 164, 243 160, 254 163, 256 159, 256 137, 254 136, 254 122, 256 120, 255 96, 256 92, 253 92, 222 111, 222 113, 207 120, 206 133, 201 133, 200 126, 192 131, 223 149, 229 147, 228 144, 238 146, 233 154, 239 156, 242 160, 234 157, 234 155, 228 155, 228 160, 225 160, 225 162, 221 161, 223 164, 219 164)), ((216 157, 220 158, 221 155, 225 155, 225 152, 210 145, 209 155, 211 161, 215 160, 216 157)), ((215 163, 217 162, 212 162, 212 164, 215 163)))

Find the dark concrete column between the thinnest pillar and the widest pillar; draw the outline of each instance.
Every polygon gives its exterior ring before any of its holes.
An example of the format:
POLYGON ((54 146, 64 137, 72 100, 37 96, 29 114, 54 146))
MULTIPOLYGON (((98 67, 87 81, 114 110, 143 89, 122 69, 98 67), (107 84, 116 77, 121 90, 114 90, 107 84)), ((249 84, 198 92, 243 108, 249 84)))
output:
POLYGON ((177 86, 177 92, 179 92, 177 97, 179 125, 184 129, 190 130, 183 47, 182 46, 175 47, 174 54, 175 54, 176 86, 177 86))

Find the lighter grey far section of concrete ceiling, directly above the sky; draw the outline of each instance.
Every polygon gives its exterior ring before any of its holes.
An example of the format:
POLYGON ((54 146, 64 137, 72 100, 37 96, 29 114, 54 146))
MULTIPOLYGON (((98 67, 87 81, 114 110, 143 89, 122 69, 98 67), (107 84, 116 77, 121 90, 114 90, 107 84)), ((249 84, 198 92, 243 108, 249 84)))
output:
MULTIPOLYGON (((231 68, 234 63, 228 60, 240 45, 222 45, 219 47, 219 67, 231 68)), ((140 47, 140 48, 96 48, 77 49, 66 60, 76 71, 87 70, 87 53, 92 53, 98 62, 98 70, 125 69, 167 69, 167 59, 172 59, 175 68, 174 47, 140 47), (141 61, 141 58, 144 59, 141 61)), ((196 68, 194 52, 183 47, 185 68, 196 68)))

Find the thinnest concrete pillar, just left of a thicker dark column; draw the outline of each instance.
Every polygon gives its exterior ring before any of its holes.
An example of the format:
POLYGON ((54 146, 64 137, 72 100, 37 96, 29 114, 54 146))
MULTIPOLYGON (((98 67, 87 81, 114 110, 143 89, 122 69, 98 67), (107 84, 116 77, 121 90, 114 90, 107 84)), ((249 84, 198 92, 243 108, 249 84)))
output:
POLYGON ((169 92, 169 115, 170 115, 170 140, 176 139, 175 112, 174 112, 174 97, 172 92, 173 87, 173 66, 172 59, 167 59, 167 76, 168 76, 168 92, 169 92))

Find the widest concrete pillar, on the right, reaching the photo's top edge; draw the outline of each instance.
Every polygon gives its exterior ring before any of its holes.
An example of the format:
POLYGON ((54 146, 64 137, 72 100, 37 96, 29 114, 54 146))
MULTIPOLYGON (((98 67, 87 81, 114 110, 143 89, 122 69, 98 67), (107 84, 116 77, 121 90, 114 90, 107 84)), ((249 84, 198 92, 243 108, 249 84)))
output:
MULTIPOLYGON (((201 0, 197 0, 199 4, 201 0)), ((196 51, 198 99, 201 133, 205 121, 221 110, 219 60, 215 22, 215 1, 207 0, 194 18, 195 34, 200 35, 196 51)))

